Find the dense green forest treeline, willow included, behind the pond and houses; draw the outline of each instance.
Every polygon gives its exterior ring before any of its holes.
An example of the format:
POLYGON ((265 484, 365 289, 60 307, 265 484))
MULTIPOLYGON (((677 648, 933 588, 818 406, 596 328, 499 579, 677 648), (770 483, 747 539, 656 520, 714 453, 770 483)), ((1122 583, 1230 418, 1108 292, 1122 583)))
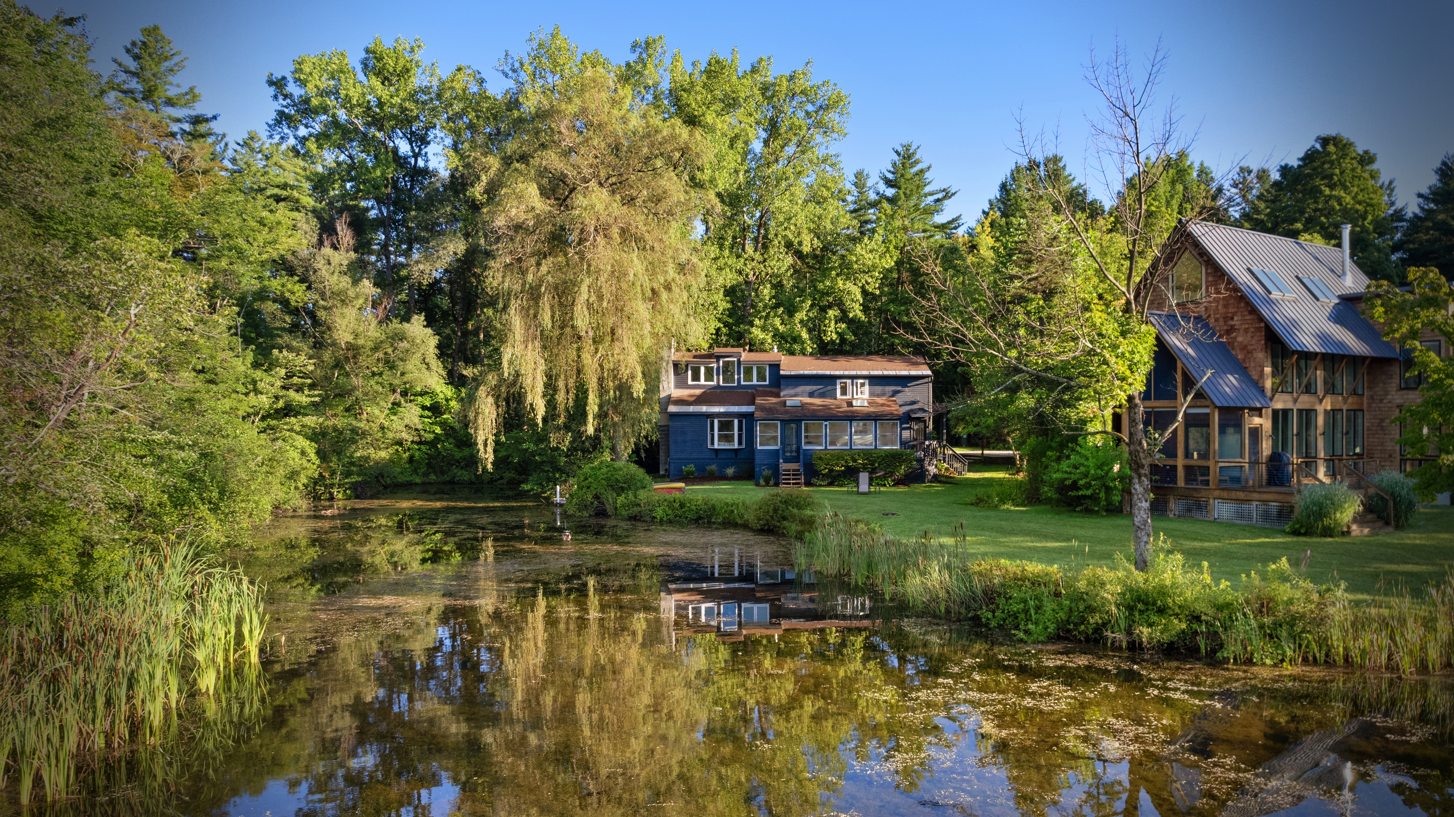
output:
MULTIPOLYGON (((1105 313, 1115 294, 1082 286, 1086 250, 1061 238, 1083 218, 1092 246, 1133 251, 1125 190, 1101 202, 1027 151, 965 221, 913 142, 877 173, 842 166, 849 94, 811 64, 688 61, 662 38, 616 63, 555 29, 489 80, 375 39, 269 76, 266 134, 228 138, 160 26, 103 73, 79 17, 15 0, 0 17, 3 606, 310 500, 545 490, 631 458, 673 347, 926 355, 941 395, 979 400, 957 429, 990 435, 1025 401, 1095 403, 944 353, 926 292, 1048 269, 1037 304, 1105 313)), ((1173 150, 1154 173, 1162 234, 1195 215, 1336 243, 1351 222, 1370 275, 1454 276, 1450 157, 1412 215, 1341 135, 1272 170, 1173 150)), ((1149 353, 1144 327, 1106 331, 1128 372, 1149 353)))

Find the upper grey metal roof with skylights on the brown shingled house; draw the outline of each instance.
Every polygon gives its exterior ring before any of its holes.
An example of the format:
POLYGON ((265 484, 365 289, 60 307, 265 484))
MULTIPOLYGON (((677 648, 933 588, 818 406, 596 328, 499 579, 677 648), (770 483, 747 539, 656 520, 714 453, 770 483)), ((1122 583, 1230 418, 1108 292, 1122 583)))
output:
POLYGON ((1343 283, 1343 250, 1297 238, 1253 233, 1205 221, 1186 222, 1192 238, 1242 289, 1248 301, 1268 321, 1272 331, 1296 352, 1397 358, 1399 352, 1383 339, 1368 318, 1346 299, 1335 304, 1319 301, 1298 278, 1316 278, 1336 295, 1364 292, 1368 276, 1349 265, 1349 283, 1343 283), (1293 297, 1272 297, 1253 276, 1252 269, 1278 273, 1293 297))

